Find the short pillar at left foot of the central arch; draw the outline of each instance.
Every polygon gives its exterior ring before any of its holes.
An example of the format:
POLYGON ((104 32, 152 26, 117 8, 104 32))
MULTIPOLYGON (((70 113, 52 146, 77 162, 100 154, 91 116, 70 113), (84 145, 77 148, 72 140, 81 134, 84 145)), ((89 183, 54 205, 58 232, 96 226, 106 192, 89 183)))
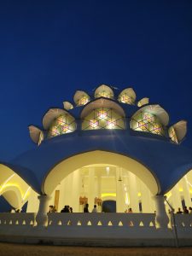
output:
POLYGON ((38 195, 39 200, 39 207, 38 207, 38 214, 36 216, 36 221, 38 226, 45 227, 48 223, 48 208, 49 208, 49 195, 38 195))

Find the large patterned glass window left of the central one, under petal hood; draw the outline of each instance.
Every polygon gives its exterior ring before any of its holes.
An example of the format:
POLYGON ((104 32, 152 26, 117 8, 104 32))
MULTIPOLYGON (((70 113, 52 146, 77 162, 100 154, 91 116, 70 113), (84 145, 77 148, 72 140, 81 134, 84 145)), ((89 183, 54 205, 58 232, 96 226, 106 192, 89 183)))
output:
POLYGON ((60 115, 49 127, 48 137, 55 137, 76 130, 75 119, 69 114, 60 115))

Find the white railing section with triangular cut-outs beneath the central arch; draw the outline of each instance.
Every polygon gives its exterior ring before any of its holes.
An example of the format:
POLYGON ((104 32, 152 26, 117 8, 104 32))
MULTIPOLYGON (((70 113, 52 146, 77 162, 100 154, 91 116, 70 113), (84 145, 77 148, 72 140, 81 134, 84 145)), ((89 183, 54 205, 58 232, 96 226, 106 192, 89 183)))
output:
POLYGON ((153 213, 49 213, 48 226, 153 228, 153 213))

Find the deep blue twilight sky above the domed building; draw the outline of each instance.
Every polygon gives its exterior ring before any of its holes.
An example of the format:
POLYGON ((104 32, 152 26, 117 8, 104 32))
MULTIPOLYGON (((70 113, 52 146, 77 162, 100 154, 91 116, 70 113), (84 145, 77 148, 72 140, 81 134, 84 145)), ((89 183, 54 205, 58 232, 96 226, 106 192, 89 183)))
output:
POLYGON ((0 160, 36 147, 27 126, 48 108, 99 84, 187 119, 192 148, 192 1, 0 2, 0 160))

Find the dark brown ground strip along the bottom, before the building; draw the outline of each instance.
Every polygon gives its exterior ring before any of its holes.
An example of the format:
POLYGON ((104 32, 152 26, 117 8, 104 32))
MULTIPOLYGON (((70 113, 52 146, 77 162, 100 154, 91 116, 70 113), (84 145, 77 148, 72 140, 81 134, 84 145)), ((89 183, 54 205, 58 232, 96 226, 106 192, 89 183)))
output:
POLYGON ((1 256, 191 256, 192 247, 58 247, 40 245, 20 245, 10 243, 0 243, 1 256))

